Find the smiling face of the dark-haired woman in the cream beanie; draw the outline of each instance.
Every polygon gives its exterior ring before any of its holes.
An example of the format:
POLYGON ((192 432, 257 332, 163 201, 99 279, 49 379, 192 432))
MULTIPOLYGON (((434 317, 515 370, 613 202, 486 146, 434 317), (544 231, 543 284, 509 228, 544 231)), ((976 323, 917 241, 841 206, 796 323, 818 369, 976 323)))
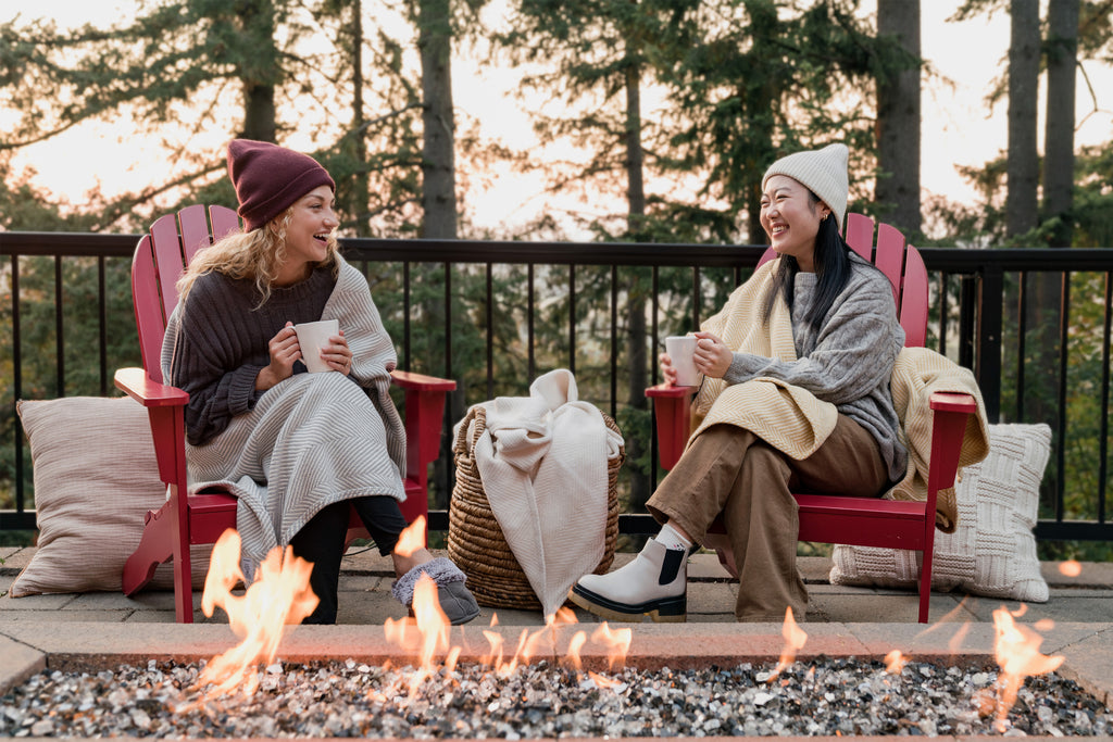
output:
POLYGON ((780 255, 796 258, 800 270, 811 273, 819 221, 830 214, 823 201, 812 200, 800 181, 785 175, 771 176, 761 194, 761 227, 769 244, 780 255))

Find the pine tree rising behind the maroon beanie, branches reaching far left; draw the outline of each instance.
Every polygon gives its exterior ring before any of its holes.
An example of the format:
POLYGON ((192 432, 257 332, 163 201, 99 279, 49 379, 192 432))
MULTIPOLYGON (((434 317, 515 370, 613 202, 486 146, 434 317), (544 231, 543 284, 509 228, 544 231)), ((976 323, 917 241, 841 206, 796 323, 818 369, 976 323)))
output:
POLYGON ((296 77, 289 63, 278 63, 296 59, 290 49, 302 29, 292 22, 294 4, 144 2, 134 18, 107 29, 9 21, 0 26, 0 89, 18 117, 0 150, 48 141, 89 120, 126 117, 136 131, 164 141, 167 131, 183 132, 177 146, 169 146, 169 159, 181 165, 167 182, 96 205, 95 228, 134 224, 138 207, 223 169, 215 152, 191 148, 188 132, 230 128, 225 103, 233 96, 239 98, 238 133, 275 139, 276 91, 296 77), (276 40, 283 23, 288 48, 276 40), (191 119, 193 113, 199 118, 191 119))

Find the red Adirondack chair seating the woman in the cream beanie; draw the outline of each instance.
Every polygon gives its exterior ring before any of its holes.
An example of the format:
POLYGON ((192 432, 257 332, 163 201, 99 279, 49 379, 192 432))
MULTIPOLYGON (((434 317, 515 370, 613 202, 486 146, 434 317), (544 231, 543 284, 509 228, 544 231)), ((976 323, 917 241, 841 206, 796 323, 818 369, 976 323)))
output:
MULTIPOLYGON (((905 247, 904 236, 883 224, 874 249, 874 220, 847 215, 846 239, 850 247, 881 269, 893 283, 905 345, 923 347, 927 336, 927 269, 915 247, 905 247)), ((777 257, 769 248, 758 265, 777 257)), ((657 413, 661 466, 671 469, 683 453, 690 433, 690 407, 696 387, 658 386, 646 389, 657 413)), ((926 502, 896 502, 838 495, 794 493, 799 505, 799 541, 855 546, 908 548, 923 553, 919 580, 919 622, 927 622, 932 593, 932 554, 935 548, 935 507, 939 489, 954 485, 966 418, 977 412, 967 394, 932 395, 932 453, 926 502)), ((721 523, 718 531, 722 532, 721 523)), ((723 560, 726 564, 727 561, 723 560)))

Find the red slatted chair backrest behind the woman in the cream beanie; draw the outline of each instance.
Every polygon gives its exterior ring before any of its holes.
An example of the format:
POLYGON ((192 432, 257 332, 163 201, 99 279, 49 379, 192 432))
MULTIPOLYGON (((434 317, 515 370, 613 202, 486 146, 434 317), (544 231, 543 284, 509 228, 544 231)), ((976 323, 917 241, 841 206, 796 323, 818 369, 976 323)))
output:
MULTIPOLYGON (((896 227, 881 224, 877 228, 874 247, 874 220, 864 214, 848 214, 846 243, 864 259, 873 263, 893 285, 893 300, 897 306, 900 327, 905 332, 905 346, 920 348, 927 342, 927 267, 919 250, 905 245, 904 235, 896 227)), ((770 247, 758 265, 777 257, 770 247)))

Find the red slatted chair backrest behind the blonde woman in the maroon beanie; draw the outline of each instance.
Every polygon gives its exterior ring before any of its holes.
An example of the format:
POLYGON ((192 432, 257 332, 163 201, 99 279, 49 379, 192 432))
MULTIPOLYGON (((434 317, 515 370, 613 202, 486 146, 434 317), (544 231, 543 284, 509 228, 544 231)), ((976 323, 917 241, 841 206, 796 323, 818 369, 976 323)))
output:
POLYGON ((239 217, 224 206, 206 209, 189 206, 151 225, 139 240, 131 264, 131 297, 135 301, 139 348, 147 375, 162 382, 160 356, 166 323, 178 306, 176 284, 197 250, 239 229, 239 217), (210 222, 211 219, 211 230, 210 222))

